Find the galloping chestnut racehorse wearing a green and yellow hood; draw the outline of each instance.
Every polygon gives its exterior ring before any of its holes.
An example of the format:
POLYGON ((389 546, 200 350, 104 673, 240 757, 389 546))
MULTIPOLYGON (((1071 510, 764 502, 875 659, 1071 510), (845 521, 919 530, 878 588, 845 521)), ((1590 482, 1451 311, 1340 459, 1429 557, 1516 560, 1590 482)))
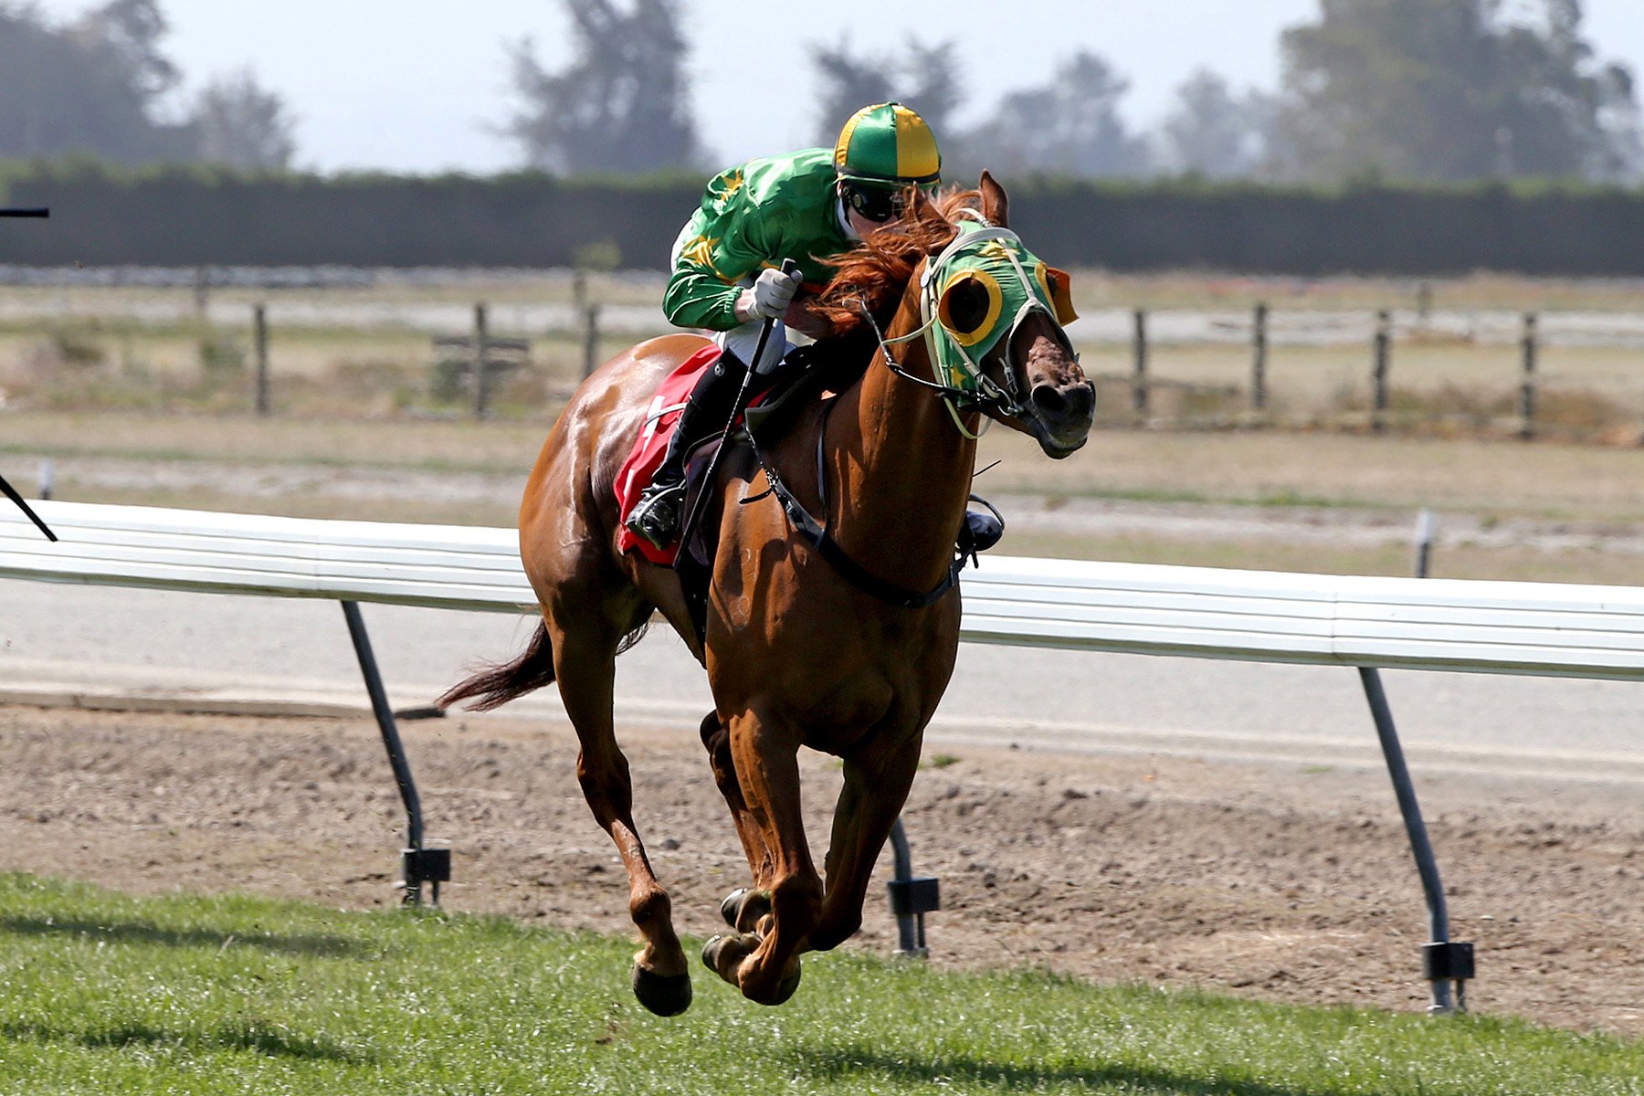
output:
MULTIPOLYGON (((628 874, 643 945, 633 992, 659 1015, 689 1007, 690 973, 631 817, 612 713, 616 656, 659 611, 707 669, 713 711, 702 743, 751 886, 725 899, 730 932, 713 937, 702 960, 750 1001, 781 1004, 799 984, 802 953, 860 928, 873 864, 952 675, 955 537, 981 416, 1036 437, 1054 458, 1088 435, 1092 385, 1042 307, 1024 309, 975 363, 991 398, 962 401, 937 380, 935 343, 921 342, 937 334, 921 319, 921 274, 965 217, 1008 227, 1004 189, 988 173, 977 191, 916 196, 909 215, 835 261, 807 306, 835 337, 866 337, 871 358, 843 391, 812 401, 769 452, 727 450, 718 483, 702 488, 718 550, 700 639, 679 575, 616 549, 623 516, 613 480, 651 394, 704 338, 651 338, 597 370, 549 432, 520 508, 520 555, 543 619, 518 657, 475 672, 439 702, 485 710, 559 684, 580 746, 577 781, 628 874), (807 521, 812 536, 794 536, 807 521), (825 879, 799 810, 801 746, 843 762, 825 879)), ((988 309, 977 279, 955 281, 935 320, 945 332, 975 327, 988 309)))

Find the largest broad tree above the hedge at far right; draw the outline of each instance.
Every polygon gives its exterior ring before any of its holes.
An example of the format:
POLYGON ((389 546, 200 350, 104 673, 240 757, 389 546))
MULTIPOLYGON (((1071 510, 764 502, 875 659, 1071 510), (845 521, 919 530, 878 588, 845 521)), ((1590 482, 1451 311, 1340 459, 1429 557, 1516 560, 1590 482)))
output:
POLYGON ((1320 0, 1281 39, 1276 166, 1299 177, 1616 177, 1632 79, 1580 36, 1580 0, 1320 0), (1514 12, 1524 10, 1524 5, 1514 12))

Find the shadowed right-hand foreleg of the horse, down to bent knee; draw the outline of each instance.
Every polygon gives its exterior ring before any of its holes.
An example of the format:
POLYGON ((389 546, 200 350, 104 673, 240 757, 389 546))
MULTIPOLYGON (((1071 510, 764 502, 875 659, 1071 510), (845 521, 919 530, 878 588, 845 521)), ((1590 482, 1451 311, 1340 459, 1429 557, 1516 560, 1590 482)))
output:
POLYGON ((861 928, 861 904, 868 897, 873 864, 907 802, 919 771, 921 736, 883 756, 847 758, 845 787, 834 808, 834 833, 827 850, 827 892, 822 914, 810 930, 810 948, 827 951, 861 928))

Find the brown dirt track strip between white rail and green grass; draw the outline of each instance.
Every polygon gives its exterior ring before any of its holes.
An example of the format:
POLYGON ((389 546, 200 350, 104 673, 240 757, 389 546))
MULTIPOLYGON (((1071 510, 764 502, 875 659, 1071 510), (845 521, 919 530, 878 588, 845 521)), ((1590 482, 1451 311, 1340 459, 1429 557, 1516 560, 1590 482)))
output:
MULTIPOLYGON (((628 928, 567 728, 450 718, 404 735, 429 835, 455 850, 447 907, 628 928)), ((709 935, 746 876, 700 746, 656 730, 623 741, 679 927, 709 935)), ((806 779, 822 841, 835 762, 807 756, 806 779)), ((0 708, 0 869, 138 892, 396 900, 403 815, 368 720, 0 708)), ((1473 1011, 1644 1037, 1636 789, 1447 777, 1425 808, 1453 937, 1478 946, 1473 1011)), ((1381 772, 967 751, 921 772, 906 822, 916 871, 942 881, 927 919, 937 965, 1425 1004, 1424 907, 1381 772)), ((894 946, 883 902, 875 886, 847 946, 894 946)), ((612 971, 612 992, 626 992, 626 971, 612 971)))

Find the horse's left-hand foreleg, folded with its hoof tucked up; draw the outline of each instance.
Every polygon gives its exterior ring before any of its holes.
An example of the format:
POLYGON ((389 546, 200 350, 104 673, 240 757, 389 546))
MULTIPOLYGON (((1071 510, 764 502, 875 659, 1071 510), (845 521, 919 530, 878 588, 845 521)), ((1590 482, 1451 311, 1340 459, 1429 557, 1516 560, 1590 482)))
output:
POLYGON ((763 933, 715 937, 702 958, 750 1001, 781 1004, 799 988, 799 955, 822 907, 799 810, 799 735, 745 711, 730 723, 730 749, 769 858, 771 912, 760 919, 763 933))

